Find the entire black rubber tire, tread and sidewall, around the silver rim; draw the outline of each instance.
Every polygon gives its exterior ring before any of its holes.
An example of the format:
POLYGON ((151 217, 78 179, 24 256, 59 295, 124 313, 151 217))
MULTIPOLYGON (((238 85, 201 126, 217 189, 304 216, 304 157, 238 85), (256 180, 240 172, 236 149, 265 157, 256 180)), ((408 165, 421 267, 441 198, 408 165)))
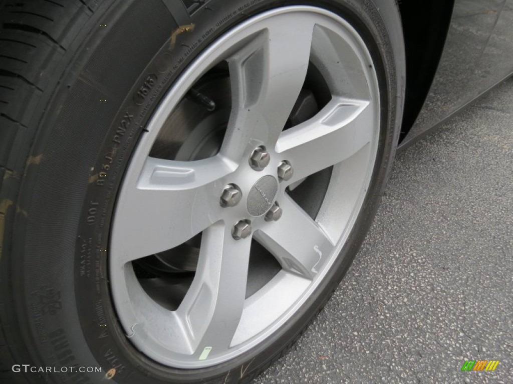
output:
POLYGON ((0 22, 0 381, 96 383, 106 375, 122 384, 251 381, 323 308, 381 200, 403 104, 396 2, 16 0, 0 1, 0 22), (291 4, 342 15, 376 62, 382 130, 364 209, 329 278, 272 340, 221 366, 164 367, 132 347, 111 304, 100 250, 107 246, 116 190, 146 121, 188 63, 242 20, 291 4), (161 86, 147 89, 149 74, 156 76, 151 84, 161 86), (152 96, 138 98, 141 90, 152 96), (114 137, 120 142, 115 155, 109 152, 114 137), (112 189, 94 189, 90 169, 101 169, 107 154, 112 189), (102 227, 86 225, 91 197, 112 201, 102 227), (22 364, 103 371, 13 371, 22 364))

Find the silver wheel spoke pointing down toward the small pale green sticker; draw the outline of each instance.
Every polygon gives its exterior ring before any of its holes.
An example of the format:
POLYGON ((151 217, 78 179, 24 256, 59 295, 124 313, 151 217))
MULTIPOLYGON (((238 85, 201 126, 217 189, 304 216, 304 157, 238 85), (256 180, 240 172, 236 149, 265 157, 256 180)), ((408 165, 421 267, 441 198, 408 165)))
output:
POLYGON ((251 239, 234 240, 231 226, 218 222, 203 232, 198 269, 176 311, 200 358, 226 351, 239 325, 246 295, 251 239))

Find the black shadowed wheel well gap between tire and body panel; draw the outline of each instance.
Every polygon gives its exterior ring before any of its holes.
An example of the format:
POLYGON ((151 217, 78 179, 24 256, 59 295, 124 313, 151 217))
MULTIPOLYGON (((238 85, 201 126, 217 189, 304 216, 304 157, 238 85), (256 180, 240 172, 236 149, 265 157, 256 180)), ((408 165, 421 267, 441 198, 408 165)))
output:
POLYGON ((406 49, 406 98, 400 140, 419 116, 437 72, 454 0, 399 0, 406 49))

